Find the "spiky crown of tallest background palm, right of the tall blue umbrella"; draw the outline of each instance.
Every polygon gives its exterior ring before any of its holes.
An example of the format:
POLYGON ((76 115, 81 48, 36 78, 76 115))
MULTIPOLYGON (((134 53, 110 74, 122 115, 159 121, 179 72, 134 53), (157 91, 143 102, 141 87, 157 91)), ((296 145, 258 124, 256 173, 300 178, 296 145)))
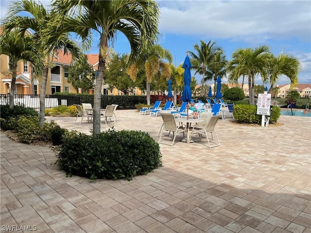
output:
POLYGON ((200 42, 201 45, 195 44, 193 46, 195 52, 187 52, 191 57, 191 69, 195 69, 194 75, 197 73, 202 74, 201 84, 204 85, 207 80, 213 78, 212 76, 206 76, 209 65, 215 62, 216 54, 223 54, 224 51, 216 45, 216 42, 208 41, 208 43, 205 43, 203 40, 200 40, 200 42))

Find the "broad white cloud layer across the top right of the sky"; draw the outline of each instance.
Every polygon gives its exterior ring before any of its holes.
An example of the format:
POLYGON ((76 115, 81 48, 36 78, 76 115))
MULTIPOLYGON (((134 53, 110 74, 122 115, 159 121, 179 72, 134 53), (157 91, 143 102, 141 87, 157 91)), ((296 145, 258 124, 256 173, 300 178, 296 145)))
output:
POLYGON ((310 40, 310 1, 159 1, 162 33, 310 40))

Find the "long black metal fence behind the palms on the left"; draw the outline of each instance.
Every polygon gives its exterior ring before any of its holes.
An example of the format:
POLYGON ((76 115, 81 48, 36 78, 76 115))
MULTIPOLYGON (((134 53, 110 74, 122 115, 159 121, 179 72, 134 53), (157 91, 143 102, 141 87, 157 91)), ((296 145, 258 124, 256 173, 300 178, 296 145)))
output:
MULTIPOLYGON (((23 104, 34 109, 40 108, 40 95, 15 95, 14 104, 23 104)), ((59 105, 70 106, 73 104, 91 103, 93 105, 94 95, 46 95, 45 107, 53 108, 59 105)), ((9 95, 0 95, 0 104, 8 104, 9 95)), ((118 109, 135 109, 135 105, 147 103, 146 96, 102 96, 101 108, 110 104, 118 104, 118 109)))

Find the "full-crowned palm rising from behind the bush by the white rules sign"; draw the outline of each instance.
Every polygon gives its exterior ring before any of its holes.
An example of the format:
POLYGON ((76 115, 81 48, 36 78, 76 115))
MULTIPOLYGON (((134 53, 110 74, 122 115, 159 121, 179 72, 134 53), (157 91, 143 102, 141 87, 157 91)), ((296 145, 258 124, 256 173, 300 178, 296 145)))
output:
POLYGON ((232 53, 232 60, 228 63, 230 70, 228 81, 238 83, 240 76, 248 77, 249 103, 255 105, 254 85, 255 75, 260 74, 265 80, 268 76, 270 48, 266 45, 237 49, 232 53))

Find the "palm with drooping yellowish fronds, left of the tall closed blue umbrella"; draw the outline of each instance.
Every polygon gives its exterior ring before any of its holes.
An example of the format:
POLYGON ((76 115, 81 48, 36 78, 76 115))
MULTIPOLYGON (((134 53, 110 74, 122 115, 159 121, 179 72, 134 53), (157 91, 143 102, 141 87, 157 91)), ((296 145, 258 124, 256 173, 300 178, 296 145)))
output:
POLYGON ((128 74, 133 80, 137 75, 138 67, 144 64, 147 76, 146 91, 147 91, 147 104, 150 105, 150 83, 160 75, 164 75, 168 80, 171 77, 170 64, 165 62, 164 59, 172 63, 173 56, 169 50, 163 49, 159 44, 152 45, 140 55, 140 60, 129 67, 128 74))

